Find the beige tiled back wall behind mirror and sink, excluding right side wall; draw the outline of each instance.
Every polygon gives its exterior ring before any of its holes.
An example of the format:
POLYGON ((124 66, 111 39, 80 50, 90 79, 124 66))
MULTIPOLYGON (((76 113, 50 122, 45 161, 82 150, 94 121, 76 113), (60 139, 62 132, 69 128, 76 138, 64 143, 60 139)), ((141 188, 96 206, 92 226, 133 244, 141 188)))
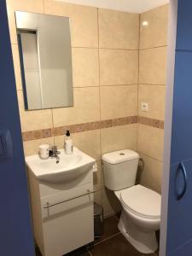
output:
POLYGON ((7 3, 25 154, 37 153, 42 143, 62 148, 62 134, 70 125, 74 145, 97 160, 95 199, 103 203, 105 215, 111 214, 118 204, 103 187, 101 156, 121 148, 137 150, 139 15, 49 0, 7 3), (70 17, 73 108, 25 111, 15 10, 70 17))

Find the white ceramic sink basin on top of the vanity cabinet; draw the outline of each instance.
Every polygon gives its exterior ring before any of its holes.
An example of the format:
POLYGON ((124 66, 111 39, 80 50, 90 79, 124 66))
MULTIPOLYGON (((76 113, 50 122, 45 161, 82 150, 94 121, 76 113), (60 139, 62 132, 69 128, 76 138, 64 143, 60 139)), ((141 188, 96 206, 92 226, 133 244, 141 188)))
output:
POLYGON ((41 160, 38 154, 34 154, 26 157, 26 166, 38 180, 49 183, 67 183, 90 171, 96 163, 96 160, 78 148, 74 148, 73 154, 65 154, 63 149, 59 151, 61 152, 59 163, 56 163, 55 158, 41 160))

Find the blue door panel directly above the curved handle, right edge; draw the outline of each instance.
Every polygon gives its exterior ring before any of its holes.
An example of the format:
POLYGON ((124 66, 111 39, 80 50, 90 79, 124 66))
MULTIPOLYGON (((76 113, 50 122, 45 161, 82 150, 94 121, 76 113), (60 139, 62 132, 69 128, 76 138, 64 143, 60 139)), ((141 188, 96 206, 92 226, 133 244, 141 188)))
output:
POLYGON ((177 51, 171 163, 192 158, 192 52, 177 51))

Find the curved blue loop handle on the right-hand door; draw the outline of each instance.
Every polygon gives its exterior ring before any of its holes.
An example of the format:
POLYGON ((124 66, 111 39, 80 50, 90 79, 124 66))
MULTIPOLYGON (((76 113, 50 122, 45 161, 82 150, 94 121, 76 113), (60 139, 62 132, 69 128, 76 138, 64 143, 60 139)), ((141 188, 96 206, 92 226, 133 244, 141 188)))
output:
POLYGON ((183 198, 183 195, 185 194, 186 190, 187 190, 187 173, 186 173, 183 161, 181 161, 177 168, 177 174, 176 174, 176 198, 177 198, 177 201, 179 201, 183 198), (181 191, 178 191, 177 178, 178 178, 178 175, 180 172, 183 175, 183 189, 181 191))

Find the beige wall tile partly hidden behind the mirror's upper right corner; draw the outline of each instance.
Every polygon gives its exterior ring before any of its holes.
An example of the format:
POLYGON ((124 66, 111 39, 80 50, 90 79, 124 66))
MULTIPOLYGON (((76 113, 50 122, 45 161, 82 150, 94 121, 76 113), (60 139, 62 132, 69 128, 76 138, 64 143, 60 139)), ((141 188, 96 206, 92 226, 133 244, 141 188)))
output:
POLYGON ((98 47, 96 8, 45 0, 44 13, 48 15, 67 16, 70 18, 73 46, 98 47))

